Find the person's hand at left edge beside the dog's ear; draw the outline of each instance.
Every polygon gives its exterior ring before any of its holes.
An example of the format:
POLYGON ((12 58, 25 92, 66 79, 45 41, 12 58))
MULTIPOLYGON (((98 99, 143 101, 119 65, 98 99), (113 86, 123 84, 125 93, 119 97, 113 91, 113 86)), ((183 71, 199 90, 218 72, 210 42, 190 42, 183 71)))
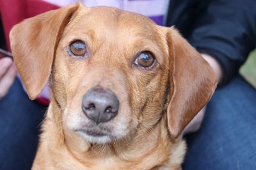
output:
POLYGON ((10 57, 0 59, 0 99, 4 97, 15 80, 17 70, 10 57))

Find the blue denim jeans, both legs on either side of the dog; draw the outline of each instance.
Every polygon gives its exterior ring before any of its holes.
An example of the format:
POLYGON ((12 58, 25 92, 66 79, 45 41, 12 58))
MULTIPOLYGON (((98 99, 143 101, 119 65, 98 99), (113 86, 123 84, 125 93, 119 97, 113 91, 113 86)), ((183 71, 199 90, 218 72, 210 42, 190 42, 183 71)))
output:
MULTIPOLYGON (((0 101, 0 169, 30 169, 45 111, 29 101, 16 80, 0 101)), ((214 93, 200 131, 184 137, 183 169, 256 169, 255 125, 256 90, 236 76, 214 93)))

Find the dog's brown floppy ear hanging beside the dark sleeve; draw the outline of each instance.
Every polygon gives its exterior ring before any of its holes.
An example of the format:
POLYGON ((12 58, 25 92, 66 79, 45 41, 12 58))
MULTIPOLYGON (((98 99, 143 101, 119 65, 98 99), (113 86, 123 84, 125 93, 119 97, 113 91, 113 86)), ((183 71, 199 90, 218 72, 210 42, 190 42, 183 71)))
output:
POLYGON ((168 129, 172 137, 177 138, 209 101, 217 79, 209 64, 173 27, 168 29, 167 41, 170 55, 168 129))

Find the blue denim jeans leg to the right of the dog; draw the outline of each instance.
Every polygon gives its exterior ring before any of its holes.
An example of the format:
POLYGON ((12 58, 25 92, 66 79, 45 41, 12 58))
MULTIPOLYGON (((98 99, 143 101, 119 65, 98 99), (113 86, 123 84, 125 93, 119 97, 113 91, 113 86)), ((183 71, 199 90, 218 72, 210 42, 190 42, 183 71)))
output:
POLYGON ((256 90, 241 76, 216 90, 200 131, 186 140, 184 170, 256 169, 256 90))

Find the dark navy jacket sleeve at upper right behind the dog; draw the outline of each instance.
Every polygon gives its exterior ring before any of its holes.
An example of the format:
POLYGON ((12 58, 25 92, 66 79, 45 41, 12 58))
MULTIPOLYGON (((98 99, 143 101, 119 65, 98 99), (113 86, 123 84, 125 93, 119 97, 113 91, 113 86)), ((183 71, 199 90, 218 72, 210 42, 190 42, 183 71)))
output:
POLYGON ((227 83, 256 45, 256 1, 215 0, 196 18, 189 37, 199 52, 220 62, 227 83))

